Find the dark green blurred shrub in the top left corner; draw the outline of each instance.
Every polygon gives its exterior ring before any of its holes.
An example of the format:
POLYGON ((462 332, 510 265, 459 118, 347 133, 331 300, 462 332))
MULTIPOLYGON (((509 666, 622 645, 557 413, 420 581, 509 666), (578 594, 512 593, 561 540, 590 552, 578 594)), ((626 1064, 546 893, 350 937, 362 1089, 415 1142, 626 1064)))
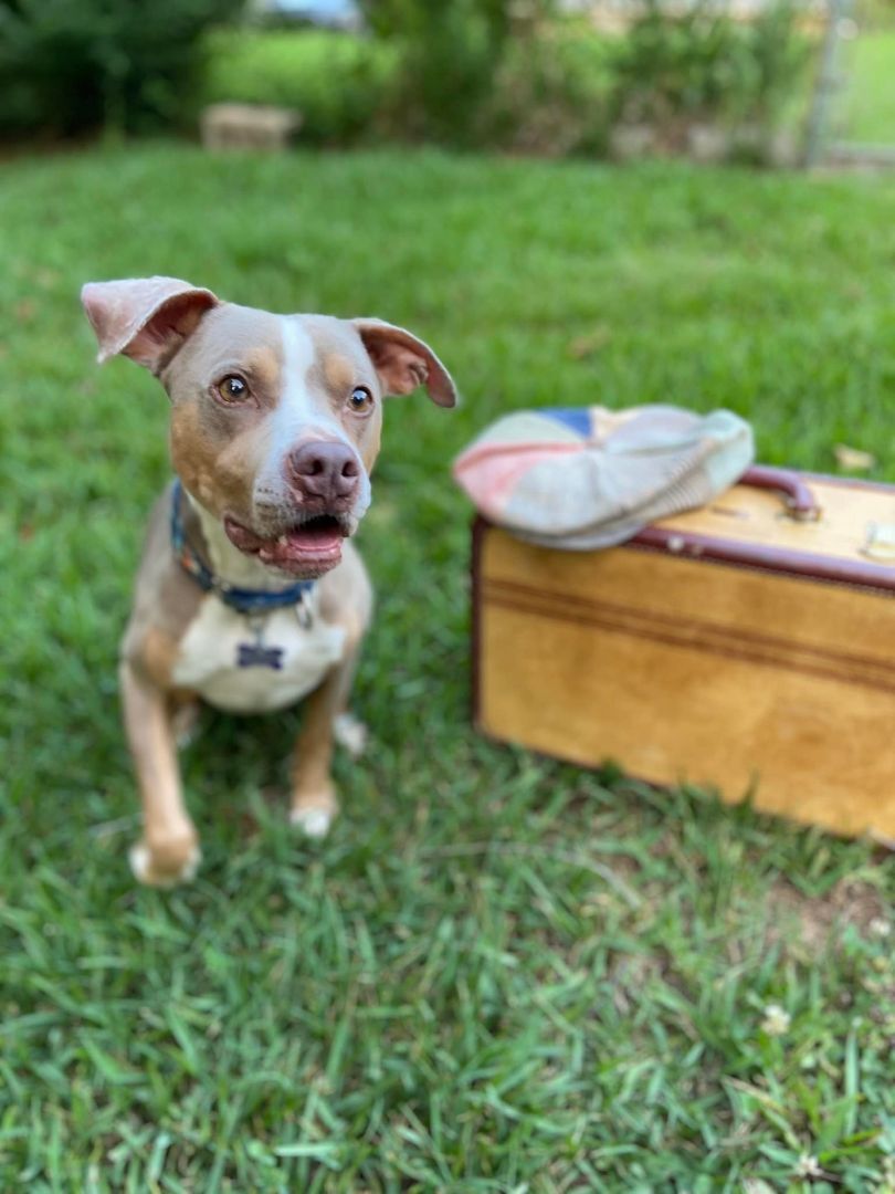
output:
POLYGON ((241 0, 0 0, 0 131, 141 131, 185 117, 199 37, 241 0))

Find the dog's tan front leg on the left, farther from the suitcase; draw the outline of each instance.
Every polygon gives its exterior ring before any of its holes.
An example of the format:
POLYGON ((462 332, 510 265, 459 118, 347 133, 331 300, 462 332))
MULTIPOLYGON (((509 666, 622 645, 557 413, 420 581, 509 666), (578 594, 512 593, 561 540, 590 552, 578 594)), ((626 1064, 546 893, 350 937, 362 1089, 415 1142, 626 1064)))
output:
POLYGON ((134 664, 122 663, 119 675, 124 726, 143 805, 143 837, 130 851, 130 866, 141 882, 171 887, 192 879, 200 854, 180 792, 169 701, 134 664))

